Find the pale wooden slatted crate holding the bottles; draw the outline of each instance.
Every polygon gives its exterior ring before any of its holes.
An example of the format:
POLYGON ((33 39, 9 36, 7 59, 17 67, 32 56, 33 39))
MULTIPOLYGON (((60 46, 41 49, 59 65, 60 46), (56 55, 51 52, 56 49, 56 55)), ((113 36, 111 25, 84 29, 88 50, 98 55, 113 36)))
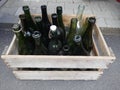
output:
MULTIPOLYGON (((64 15, 68 26, 74 15, 64 15)), ((1 58, 21 80, 97 80, 115 60, 101 30, 94 26, 91 56, 18 55, 16 36, 1 58)))

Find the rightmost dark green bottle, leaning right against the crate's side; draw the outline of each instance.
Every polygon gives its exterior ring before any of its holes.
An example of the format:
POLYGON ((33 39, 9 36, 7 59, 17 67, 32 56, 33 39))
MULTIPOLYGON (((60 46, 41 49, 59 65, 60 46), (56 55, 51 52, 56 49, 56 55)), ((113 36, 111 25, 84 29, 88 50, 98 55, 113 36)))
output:
POLYGON ((95 25, 96 19, 95 17, 89 17, 88 18, 88 24, 87 28, 85 30, 85 33, 83 35, 83 45, 85 49, 90 53, 92 48, 93 48, 93 38, 92 38, 92 32, 93 32, 93 27, 95 25))

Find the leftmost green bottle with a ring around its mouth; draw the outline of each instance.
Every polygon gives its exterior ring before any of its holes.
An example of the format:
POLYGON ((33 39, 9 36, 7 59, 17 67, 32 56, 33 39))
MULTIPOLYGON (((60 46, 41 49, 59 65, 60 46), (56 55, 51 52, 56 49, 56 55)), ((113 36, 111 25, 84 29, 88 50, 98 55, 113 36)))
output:
POLYGON ((19 55, 26 55, 29 51, 26 48, 26 40, 24 34, 22 32, 22 28, 19 24, 14 24, 12 27, 13 32, 15 33, 17 40, 18 40, 18 54, 19 55))

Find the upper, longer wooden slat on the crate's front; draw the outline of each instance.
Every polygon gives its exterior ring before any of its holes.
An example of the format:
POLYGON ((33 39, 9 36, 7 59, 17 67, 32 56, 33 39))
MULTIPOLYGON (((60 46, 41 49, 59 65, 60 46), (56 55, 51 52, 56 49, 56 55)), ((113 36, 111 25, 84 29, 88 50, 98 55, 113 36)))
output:
MULTIPOLYGON (((2 56, 2 58, 4 58, 2 56)), ((107 68, 113 57, 102 56, 5 56, 11 68, 107 68)))

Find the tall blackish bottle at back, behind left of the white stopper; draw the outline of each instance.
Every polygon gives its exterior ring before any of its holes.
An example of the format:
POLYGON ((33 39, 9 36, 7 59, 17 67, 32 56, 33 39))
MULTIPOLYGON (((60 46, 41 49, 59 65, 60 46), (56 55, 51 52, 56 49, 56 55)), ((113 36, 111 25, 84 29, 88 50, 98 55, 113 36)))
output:
POLYGON ((46 47, 48 47, 48 43, 49 43, 49 37, 48 37, 48 33, 50 30, 50 21, 48 19, 48 14, 47 14, 47 6, 46 5, 42 5, 41 6, 41 11, 42 11, 42 31, 41 34, 44 37, 43 39, 43 43, 46 47))

